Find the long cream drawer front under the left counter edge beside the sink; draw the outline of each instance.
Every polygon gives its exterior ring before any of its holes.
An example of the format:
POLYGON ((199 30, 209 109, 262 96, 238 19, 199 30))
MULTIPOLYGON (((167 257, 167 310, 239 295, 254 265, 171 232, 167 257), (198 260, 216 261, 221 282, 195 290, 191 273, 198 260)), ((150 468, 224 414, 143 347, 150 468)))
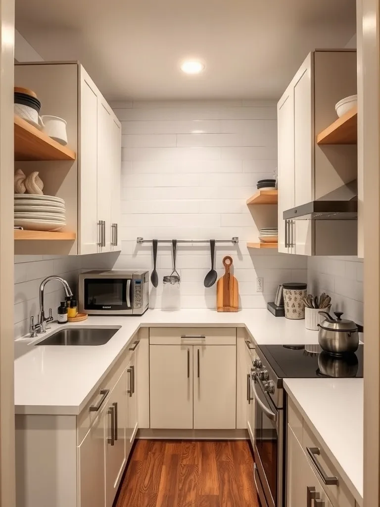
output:
MULTIPOLYGON (((133 340, 131 342, 132 346, 133 340)), ((120 379, 120 376, 127 368, 128 361, 133 358, 133 354, 136 352, 129 351, 128 349, 119 357, 117 363, 113 366, 112 370, 107 374, 107 376, 101 381, 96 392, 91 396, 90 401, 87 403, 86 407, 82 410, 82 412, 77 416, 77 444, 80 445, 82 440, 85 438, 88 430, 95 422, 96 418, 100 414, 100 408, 104 406, 107 402, 107 398, 109 393, 112 391, 113 387, 115 387, 117 381, 120 379), (108 390, 107 393, 101 394, 101 390, 108 390), (100 406, 99 406, 100 404, 100 406), (92 406, 99 406, 99 410, 90 410, 92 406)))

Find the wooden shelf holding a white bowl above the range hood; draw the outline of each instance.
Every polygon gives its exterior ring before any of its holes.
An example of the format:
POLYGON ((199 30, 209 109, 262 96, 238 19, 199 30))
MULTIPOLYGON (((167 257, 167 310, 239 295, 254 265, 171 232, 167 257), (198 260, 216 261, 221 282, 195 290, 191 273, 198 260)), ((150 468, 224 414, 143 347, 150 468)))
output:
POLYGON ((317 144, 356 144, 358 142, 358 108, 345 115, 317 135, 317 144))

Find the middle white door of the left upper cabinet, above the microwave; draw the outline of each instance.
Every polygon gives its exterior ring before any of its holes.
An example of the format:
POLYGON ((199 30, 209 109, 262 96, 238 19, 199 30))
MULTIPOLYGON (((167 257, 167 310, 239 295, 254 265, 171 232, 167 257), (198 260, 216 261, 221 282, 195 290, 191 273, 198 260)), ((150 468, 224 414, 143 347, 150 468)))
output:
POLYGON ((111 198, 113 182, 112 110, 101 97, 98 103, 98 222, 101 230, 101 252, 111 249, 111 198))

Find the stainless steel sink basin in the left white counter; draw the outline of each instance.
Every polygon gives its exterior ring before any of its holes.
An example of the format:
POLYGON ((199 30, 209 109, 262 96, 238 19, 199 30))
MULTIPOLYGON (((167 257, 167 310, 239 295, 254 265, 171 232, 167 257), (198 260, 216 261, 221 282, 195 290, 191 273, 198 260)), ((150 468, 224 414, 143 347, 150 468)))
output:
POLYGON ((104 345, 118 331, 119 328, 60 329, 34 345, 104 345))

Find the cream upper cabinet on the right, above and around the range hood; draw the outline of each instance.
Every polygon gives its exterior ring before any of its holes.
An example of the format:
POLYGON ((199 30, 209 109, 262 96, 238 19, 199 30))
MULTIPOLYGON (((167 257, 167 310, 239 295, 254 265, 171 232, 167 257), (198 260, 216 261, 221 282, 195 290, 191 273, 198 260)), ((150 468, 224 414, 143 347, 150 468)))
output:
POLYGON ((277 105, 280 252, 355 255, 355 221, 284 220, 283 212, 319 199, 357 177, 354 146, 318 146, 337 116, 335 103, 356 93, 356 52, 310 53, 277 105), (350 240, 348 240, 350 238, 350 240))

